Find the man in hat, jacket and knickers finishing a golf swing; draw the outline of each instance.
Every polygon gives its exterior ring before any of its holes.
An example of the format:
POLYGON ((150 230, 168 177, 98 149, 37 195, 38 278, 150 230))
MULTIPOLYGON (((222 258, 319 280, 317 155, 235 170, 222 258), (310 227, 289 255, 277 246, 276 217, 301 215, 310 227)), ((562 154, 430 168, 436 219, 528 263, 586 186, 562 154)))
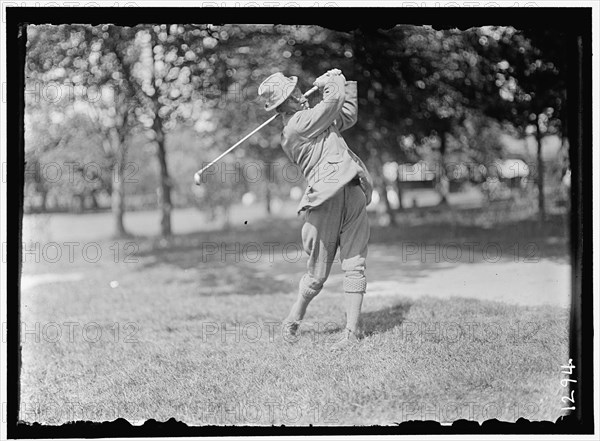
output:
POLYGON ((367 288, 365 267, 373 181, 364 163, 349 148, 341 132, 357 120, 356 81, 346 81, 332 69, 314 82, 323 99, 309 108, 297 86, 297 77, 275 73, 260 85, 258 94, 265 109, 283 117, 281 145, 297 164, 308 186, 298 213, 304 212, 302 244, 308 254, 306 274, 300 280, 296 302, 284 321, 284 333, 296 335, 306 308, 323 288, 339 247, 344 292, 346 328, 332 346, 341 350, 354 345, 367 288))

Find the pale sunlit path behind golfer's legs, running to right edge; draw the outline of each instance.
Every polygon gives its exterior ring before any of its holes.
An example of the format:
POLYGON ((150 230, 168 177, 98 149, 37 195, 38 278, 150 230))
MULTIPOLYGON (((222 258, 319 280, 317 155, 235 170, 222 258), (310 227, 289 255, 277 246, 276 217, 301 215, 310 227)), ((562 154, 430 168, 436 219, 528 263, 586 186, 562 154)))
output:
MULTIPOLYGON (((402 262, 401 256, 399 247, 370 246, 369 296, 467 297, 518 305, 570 306, 571 267, 564 262, 544 258, 535 262, 402 262)), ((296 263, 281 259, 264 270, 277 274, 277 280, 299 280, 304 259, 296 263)), ((342 292, 342 280, 336 262, 323 294, 342 292)))

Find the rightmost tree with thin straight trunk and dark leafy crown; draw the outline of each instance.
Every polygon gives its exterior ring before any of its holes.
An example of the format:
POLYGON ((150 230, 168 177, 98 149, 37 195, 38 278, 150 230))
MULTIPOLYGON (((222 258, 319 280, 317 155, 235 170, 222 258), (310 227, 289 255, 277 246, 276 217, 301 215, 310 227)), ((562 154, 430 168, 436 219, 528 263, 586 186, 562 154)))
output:
POLYGON ((539 219, 546 218, 542 139, 566 135, 566 37, 550 30, 481 28, 470 34, 485 64, 486 114, 513 124, 537 141, 539 219), (498 99, 500 97, 500 99, 498 99))

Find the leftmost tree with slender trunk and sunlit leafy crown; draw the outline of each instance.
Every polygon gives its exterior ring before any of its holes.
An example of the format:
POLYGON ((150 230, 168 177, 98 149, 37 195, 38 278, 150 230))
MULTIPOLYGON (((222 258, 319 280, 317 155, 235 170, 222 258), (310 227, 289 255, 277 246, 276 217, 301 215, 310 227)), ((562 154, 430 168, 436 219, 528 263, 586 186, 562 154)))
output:
POLYGON ((70 110, 87 118, 88 135, 102 137, 101 145, 114 171, 111 197, 115 235, 124 236, 126 138, 136 124, 136 106, 131 84, 118 63, 127 35, 109 35, 107 29, 106 25, 30 26, 26 65, 36 85, 47 87, 52 82, 66 92, 59 100, 63 103, 61 112, 70 110))

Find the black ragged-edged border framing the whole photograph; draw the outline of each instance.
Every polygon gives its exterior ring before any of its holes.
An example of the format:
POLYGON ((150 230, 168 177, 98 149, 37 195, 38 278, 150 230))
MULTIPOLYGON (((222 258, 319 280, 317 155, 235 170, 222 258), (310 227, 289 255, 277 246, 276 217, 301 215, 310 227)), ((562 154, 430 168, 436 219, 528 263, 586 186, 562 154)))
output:
POLYGON ((171 436, 408 435, 408 434, 591 434, 593 433, 592 304, 592 88, 591 8, 6 8, 7 30, 7 430, 15 438, 109 438, 171 436), (344 9, 344 13, 341 10, 344 9), (518 12, 517 12, 518 11, 518 12), (388 28, 395 24, 429 24, 436 28, 469 28, 506 24, 517 28, 551 27, 568 32, 569 143, 571 184, 572 302, 570 356, 577 371, 576 411, 556 422, 516 423, 458 420, 451 426, 408 421, 398 426, 364 427, 189 427, 174 418, 132 426, 114 422, 72 422, 62 426, 18 421, 20 352, 21 227, 24 184, 24 68, 27 24, 40 23, 196 23, 313 24, 349 31, 357 27, 388 28), (350 22, 346 22, 350 17, 350 22), (382 19, 385 17, 385 19, 382 19), (543 20, 541 20, 543 17, 543 20), (342 24, 344 23, 344 24, 342 24), (358 23, 371 23, 368 25, 358 23), (18 187, 18 188, 17 188, 18 187), (585 295, 584 295, 585 293, 585 295), (586 387, 587 385, 587 387, 586 387))

